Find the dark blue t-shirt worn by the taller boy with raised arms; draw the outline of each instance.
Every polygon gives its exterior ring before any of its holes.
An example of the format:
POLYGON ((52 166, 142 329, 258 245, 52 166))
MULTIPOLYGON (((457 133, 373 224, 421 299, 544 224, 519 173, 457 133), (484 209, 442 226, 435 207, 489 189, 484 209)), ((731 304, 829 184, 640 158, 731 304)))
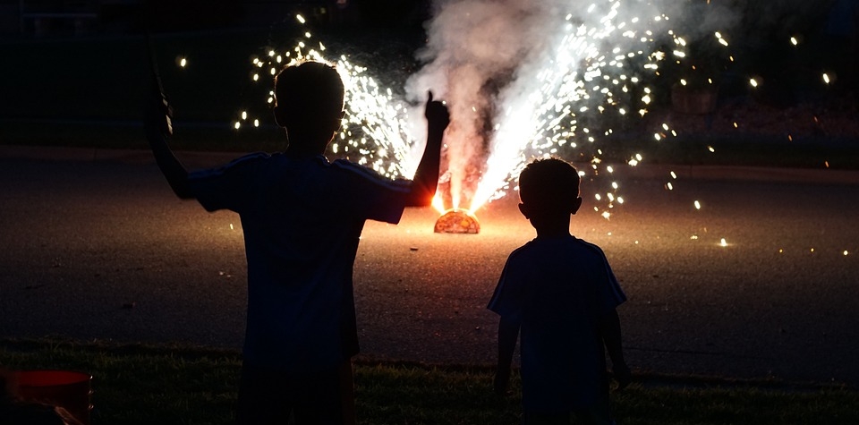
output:
POLYGON ((251 154, 189 175, 208 211, 242 219, 248 261, 243 361, 324 370, 358 353, 353 264, 364 221, 396 224, 405 181, 345 160, 251 154))

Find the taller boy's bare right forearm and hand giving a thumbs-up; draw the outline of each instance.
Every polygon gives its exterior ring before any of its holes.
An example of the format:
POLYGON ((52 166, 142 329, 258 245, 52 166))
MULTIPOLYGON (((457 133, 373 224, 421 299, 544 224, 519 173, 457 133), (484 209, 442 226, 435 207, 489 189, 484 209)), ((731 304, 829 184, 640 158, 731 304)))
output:
POLYGON ((426 207, 432 203, 436 196, 438 186, 438 167, 441 161, 441 141, 445 136, 445 129, 450 123, 450 115, 447 106, 438 100, 432 100, 432 92, 424 111, 427 118, 427 147, 423 150, 421 163, 414 173, 412 179, 412 192, 405 200, 406 207, 426 207))

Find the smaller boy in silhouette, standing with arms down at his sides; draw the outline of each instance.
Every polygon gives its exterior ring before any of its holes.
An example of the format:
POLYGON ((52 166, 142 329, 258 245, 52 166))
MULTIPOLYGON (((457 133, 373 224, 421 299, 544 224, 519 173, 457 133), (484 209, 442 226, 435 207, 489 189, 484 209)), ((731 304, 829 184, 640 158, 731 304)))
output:
POLYGON ((616 310, 626 296, 602 250, 570 234, 579 174, 555 157, 534 160, 519 175, 519 198, 537 237, 507 258, 489 302, 500 316, 496 393, 506 394, 521 329, 523 424, 614 423, 603 346, 626 387, 616 310))

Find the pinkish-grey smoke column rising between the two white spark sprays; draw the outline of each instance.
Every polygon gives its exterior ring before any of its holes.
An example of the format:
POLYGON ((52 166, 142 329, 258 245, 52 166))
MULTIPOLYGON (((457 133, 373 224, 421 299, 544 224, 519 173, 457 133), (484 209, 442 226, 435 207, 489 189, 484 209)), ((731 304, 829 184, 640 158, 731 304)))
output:
POLYGON ((417 97, 432 88, 446 98, 451 113, 447 133, 450 204, 467 205, 484 171, 493 117, 501 91, 539 51, 546 37, 552 2, 458 0, 436 4, 427 28, 429 41, 419 58, 427 65, 407 83, 417 97))

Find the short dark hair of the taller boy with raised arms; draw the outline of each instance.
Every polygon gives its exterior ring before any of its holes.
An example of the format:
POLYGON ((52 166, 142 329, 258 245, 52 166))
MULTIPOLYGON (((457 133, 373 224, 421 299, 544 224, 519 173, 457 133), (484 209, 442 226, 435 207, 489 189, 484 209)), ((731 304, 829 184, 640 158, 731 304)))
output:
POLYGON ((300 120, 336 119, 343 112, 343 79, 321 62, 286 65, 275 77, 275 98, 278 107, 300 120))

